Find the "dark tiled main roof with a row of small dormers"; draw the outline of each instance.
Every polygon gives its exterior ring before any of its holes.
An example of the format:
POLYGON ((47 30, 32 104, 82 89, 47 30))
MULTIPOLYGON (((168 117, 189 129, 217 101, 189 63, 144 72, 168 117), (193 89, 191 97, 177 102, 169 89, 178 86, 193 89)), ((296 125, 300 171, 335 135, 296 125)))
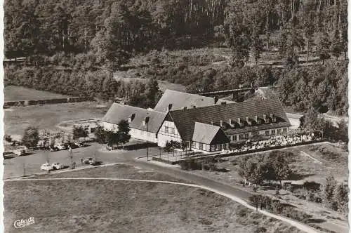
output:
POLYGON ((278 128, 291 126, 281 102, 275 98, 270 99, 252 99, 245 102, 237 102, 227 105, 213 105, 208 107, 197 107, 192 109, 181 109, 169 112, 170 118, 176 124, 176 127, 183 140, 192 140, 195 122, 204 124, 220 125, 223 121, 223 130, 227 134, 245 133, 250 131, 260 131, 268 128, 278 128), (254 116, 263 121, 263 114, 268 118, 270 114, 274 114, 277 118, 276 123, 270 124, 253 124, 249 126, 246 122, 246 117, 253 121, 254 116), (239 127, 237 119, 244 121, 244 127, 239 127), (234 128, 228 124, 229 119, 232 119, 234 128))

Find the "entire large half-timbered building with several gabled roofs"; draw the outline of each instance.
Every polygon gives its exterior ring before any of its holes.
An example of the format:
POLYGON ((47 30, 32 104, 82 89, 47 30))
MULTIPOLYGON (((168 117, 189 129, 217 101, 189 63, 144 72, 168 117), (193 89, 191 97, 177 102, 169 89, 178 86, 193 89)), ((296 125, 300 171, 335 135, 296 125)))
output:
POLYGON ((126 119, 133 138, 157 142, 160 147, 167 141, 185 142, 187 149, 201 152, 229 149, 230 142, 243 142, 256 135, 287 133, 291 126, 276 98, 216 104, 213 98, 200 95, 181 95, 178 91, 165 94, 154 109, 114 103, 102 119, 103 126, 115 131, 118 122, 126 119), (176 93, 173 98, 172 93, 176 93))

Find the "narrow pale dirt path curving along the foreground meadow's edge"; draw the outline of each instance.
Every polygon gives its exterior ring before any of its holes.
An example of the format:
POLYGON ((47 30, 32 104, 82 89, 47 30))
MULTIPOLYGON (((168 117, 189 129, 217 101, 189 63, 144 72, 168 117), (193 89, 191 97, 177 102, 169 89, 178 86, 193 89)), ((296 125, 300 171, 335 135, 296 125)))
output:
MULTIPOLYGON (((206 189, 211 192, 215 192, 216 194, 220 194, 224 197, 227 197, 229 199, 232 199, 232 201, 236 201, 237 203, 245 206, 246 208, 250 208, 253 211, 256 211, 256 208, 253 206, 250 206, 246 201, 239 199, 238 197, 235 197, 232 194, 226 194, 223 192, 218 191, 217 189, 212 189, 211 187, 204 187, 201 185, 193 185, 193 184, 187 184, 183 182, 172 182, 172 181, 164 181, 164 180, 133 180, 133 179, 123 179, 123 178, 43 178, 43 179, 11 179, 11 180, 4 180, 5 182, 24 182, 24 181, 34 181, 34 180, 124 180, 124 181, 135 181, 135 182, 157 182, 157 183, 163 183, 163 184, 170 184, 170 185, 183 185, 187 187, 197 187, 201 189, 206 189)), ((308 227, 307 225, 303 225, 300 222, 296 222, 294 220, 291 220, 289 218, 284 218, 279 215, 274 215, 273 213, 269 213, 267 211, 263 210, 258 210, 258 212, 270 217, 270 218, 275 218, 277 220, 281 220, 283 222, 288 223, 289 225, 292 225, 293 227, 296 227, 304 232, 310 232, 310 233, 317 233, 314 229, 311 227, 308 227)))

